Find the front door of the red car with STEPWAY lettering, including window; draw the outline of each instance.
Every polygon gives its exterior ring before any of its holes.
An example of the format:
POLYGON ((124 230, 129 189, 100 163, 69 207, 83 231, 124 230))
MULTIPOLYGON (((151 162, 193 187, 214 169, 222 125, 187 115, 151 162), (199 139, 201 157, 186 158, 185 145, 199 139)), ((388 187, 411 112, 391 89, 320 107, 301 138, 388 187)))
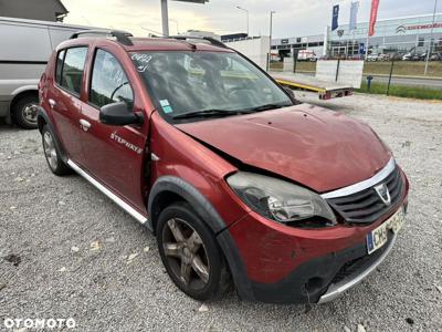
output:
POLYGON ((146 212, 143 199, 144 156, 148 125, 113 126, 99 122, 99 108, 124 101, 129 112, 143 111, 120 62, 109 51, 95 49, 81 112, 85 167, 120 198, 146 212))

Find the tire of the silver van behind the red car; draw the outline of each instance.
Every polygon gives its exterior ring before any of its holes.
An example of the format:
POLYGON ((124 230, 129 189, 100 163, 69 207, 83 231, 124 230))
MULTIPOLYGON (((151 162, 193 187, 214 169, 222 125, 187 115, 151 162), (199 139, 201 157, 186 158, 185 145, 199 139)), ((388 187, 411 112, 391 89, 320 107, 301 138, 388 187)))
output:
POLYGON ((14 103, 12 118, 24 129, 35 129, 38 106, 39 96, 36 94, 25 94, 14 103))

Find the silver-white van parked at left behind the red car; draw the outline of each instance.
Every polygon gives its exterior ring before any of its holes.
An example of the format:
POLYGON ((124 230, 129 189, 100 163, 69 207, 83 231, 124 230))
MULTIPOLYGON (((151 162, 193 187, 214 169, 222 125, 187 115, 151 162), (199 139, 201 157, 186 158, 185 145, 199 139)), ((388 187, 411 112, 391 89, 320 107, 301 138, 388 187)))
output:
POLYGON ((36 127, 36 84, 56 45, 90 27, 0 17, 0 117, 36 127))

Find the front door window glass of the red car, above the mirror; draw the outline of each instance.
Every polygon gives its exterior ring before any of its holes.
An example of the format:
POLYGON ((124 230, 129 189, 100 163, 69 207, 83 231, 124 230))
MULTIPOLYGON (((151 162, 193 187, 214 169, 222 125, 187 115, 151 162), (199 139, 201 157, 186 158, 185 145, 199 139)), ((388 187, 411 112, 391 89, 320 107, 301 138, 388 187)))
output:
POLYGON ((92 71, 90 102, 98 107, 125 102, 131 108, 134 93, 123 66, 110 53, 97 50, 92 71))

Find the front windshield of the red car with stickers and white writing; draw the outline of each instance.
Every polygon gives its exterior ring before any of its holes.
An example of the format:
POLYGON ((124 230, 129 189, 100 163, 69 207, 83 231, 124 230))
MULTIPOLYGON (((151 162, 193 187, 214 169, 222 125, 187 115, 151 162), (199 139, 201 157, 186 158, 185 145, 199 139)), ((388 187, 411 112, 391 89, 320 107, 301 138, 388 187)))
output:
POLYGON ((170 120, 293 105, 277 85, 236 53, 137 52, 131 60, 158 108, 170 120))

